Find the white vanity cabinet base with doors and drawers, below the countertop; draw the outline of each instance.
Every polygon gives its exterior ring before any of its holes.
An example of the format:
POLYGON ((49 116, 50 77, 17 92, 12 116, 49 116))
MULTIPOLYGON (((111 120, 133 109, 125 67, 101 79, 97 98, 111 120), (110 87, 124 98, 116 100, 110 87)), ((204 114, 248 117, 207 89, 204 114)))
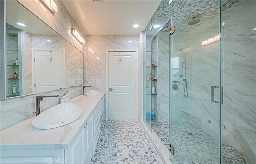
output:
MULTIPOLYGON (((52 150, 1 150, 1 164, 89 164, 95 153, 104 111, 104 96, 68 144, 67 148, 54 144, 52 150), (103 105, 102 105, 103 104, 103 105)), ((61 127, 59 127, 61 128, 61 127)), ((54 137, 54 133, 52 133, 54 137)))

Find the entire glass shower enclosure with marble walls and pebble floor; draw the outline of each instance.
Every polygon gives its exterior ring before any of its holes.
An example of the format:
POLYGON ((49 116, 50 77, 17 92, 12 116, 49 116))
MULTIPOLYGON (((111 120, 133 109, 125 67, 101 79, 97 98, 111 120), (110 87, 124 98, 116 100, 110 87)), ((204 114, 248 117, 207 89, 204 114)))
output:
POLYGON ((145 65, 144 86, 157 96, 146 97, 144 121, 172 163, 256 163, 255 9, 255 0, 162 0, 148 23, 144 61, 157 67, 145 65))

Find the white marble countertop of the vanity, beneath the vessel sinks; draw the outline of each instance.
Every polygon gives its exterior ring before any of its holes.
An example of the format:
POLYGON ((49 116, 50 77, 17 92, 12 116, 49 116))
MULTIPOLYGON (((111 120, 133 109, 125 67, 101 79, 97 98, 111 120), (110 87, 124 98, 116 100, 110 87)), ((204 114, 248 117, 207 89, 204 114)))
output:
POLYGON ((75 140, 75 135, 100 99, 104 96, 88 97, 80 95, 69 102, 82 109, 82 114, 76 121, 55 129, 39 130, 32 125, 34 117, 22 121, 1 131, 0 150, 49 150, 68 149, 75 140))

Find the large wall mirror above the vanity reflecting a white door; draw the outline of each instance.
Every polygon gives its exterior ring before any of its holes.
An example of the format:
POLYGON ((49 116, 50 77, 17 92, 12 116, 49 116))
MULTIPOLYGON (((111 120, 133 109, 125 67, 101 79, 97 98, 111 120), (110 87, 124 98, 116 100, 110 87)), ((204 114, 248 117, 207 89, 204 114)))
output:
POLYGON ((83 53, 24 6, 6 1, 7 98, 82 85, 83 61, 83 53))

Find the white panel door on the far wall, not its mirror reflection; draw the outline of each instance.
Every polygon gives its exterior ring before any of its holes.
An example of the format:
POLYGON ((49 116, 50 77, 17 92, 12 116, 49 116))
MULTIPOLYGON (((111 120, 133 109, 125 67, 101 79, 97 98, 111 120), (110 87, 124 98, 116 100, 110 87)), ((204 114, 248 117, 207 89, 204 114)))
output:
POLYGON ((136 119, 136 52, 108 52, 108 118, 136 119))

